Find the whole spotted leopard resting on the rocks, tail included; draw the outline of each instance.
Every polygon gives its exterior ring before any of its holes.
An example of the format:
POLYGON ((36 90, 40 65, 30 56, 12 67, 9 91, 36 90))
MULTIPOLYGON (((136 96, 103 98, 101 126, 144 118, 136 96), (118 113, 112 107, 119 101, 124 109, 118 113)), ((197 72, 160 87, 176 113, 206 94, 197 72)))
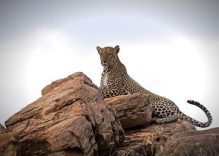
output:
POLYGON ((211 125, 212 116, 208 109, 194 100, 187 100, 187 103, 195 105, 202 109, 206 114, 208 121, 200 122, 180 111, 179 107, 170 99, 157 95, 136 82, 127 73, 125 65, 120 61, 118 53, 120 51, 119 45, 115 47, 96 47, 103 72, 101 75, 99 89, 103 98, 110 98, 120 95, 128 95, 134 93, 145 94, 152 106, 152 121, 157 124, 170 123, 177 120, 186 120, 192 125, 205 128, 211 125))

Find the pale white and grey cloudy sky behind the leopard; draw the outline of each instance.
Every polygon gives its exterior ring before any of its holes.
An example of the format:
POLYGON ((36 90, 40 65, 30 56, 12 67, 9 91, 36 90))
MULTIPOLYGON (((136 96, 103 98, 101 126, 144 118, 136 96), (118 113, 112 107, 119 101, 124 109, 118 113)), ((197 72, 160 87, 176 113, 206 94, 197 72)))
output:
POLYGON ((120 45, 129 74, 219 126, 217 1, 0 1, 0 123, 37 100, 44 86, 82 71, 99 85, 96 46, 120 45))

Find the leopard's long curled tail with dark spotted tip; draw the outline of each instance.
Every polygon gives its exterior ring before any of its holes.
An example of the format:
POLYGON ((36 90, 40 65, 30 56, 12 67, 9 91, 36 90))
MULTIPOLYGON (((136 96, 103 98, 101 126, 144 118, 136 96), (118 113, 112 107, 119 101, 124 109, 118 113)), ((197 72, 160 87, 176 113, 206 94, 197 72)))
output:
POLYGON ((211 116, 210 112, 207 110, 207 108, 205 108, 205 106, 203 106, 202 104, 200 104, 197 101, 187 100, 187 102, 189 104, 192 104, 192 105, 195 105, 195 106, 198 106, 199 108, 201 108, 205 112, 205 114, 208 118, 208 121, 207 122, 200 122, 200 121, 197 121, 197 120, 195 120, 195 119, 193 119, 193 118, 191 118, 191 117, 189 117, 189 116, 182 113, 183 119, 188 120, 189 122, 191 122, 193 125, 195 125, 197 127, 204 128, 204 127, 210 126, 211 123, 212 123, 212 116, 211 116))

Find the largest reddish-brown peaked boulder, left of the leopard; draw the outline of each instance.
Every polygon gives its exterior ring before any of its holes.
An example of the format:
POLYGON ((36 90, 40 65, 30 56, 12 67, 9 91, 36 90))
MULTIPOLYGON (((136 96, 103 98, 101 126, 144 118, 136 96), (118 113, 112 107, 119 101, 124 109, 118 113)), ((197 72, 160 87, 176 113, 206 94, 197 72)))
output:
POLYGON ((108 155, 124 131, 98 88, 83 73, 53 82, 42 97, 6 122, 0 155, 108 155), (8 153, 11 151, 11 153, 8 153))

